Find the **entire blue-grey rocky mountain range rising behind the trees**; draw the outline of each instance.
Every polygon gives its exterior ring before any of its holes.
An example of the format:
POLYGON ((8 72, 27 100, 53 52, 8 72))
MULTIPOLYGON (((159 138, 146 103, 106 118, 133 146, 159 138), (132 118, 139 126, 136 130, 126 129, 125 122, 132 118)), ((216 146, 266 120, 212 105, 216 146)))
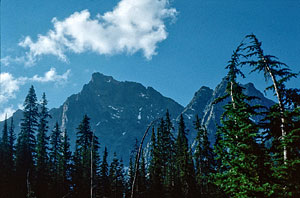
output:
MULTIPOLYGON (((215 90, 201 87, 184 108, 152 87, 146 88, 135 82, 120 82, 111 76, 94 73, 91 81, 83 86, 81 92, 67 98, 59 108, 50 110, 52 119, 49 120, 49 128, 53 129, 55 122, 58 122, 62 129, 68 131, 73 149, 76 128, 84 114, 87 114, 91 118, 91 128, 99 137, 101 148, 107 146, 110 157, 113 152, 117 152, 118 156, 127 163, 135 139, 140 140, 147 125, 152 120, 164 116, 168 109, 171 118, 178 119, 179 115, 183 114, 186 126, 190 129, 191 142, 196 137, 193 122, 195 115, 198 114, 202 118, 202 124, 209 131, 210 141, 214 142, 216 126, 220 124, 220 117, 224 112, 223 105, 228 101, 219 104, 213 104, 213 101, 225 94, 226 84, 226 80, 223 79, 215 90)), ((274 104, 255 89, 252 83, 244 87, 247 95, 261 98, 261 101, 253 101, 253 104, 260 103, 267 107, 274 104)), ((19 133, 22 111, 18 110, 13 117, 15 131, 19 133)), ((173 122, 176 127, 176 120, 174 119, 173 122)), ((1 128, 2 126, 3 123, 0 123, 1 128)))

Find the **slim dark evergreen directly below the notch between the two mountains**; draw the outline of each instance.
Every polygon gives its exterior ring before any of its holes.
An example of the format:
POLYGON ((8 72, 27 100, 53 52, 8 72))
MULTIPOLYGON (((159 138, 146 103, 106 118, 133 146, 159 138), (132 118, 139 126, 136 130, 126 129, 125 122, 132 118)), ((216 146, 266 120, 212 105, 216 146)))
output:
POLYGON ((178 136, 176 140, 176 168, 179 178, 181 197, 193 197, 196 192, 196 180, 194 163, 189 150, 188 139, 183 116, 180 115, 178 124, 178 136))

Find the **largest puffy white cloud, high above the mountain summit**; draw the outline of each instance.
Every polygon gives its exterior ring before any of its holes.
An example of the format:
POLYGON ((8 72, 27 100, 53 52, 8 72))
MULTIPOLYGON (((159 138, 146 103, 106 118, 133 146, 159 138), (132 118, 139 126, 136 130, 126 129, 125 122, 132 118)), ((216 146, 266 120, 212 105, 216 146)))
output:
POLYGON ((94 18, 88 10, 75 12, 62 21, 54 18, 54 29, 38 35, 35 42, 27 36, 19 45, 29 48, 29 63, 42 55, 67 61, 67 51, 104 55, 142 51, 151 59, 157 44, 167 38, 166 19, 174 19, 176 14, 176 9, 169 8, 169 0, 121 0, 113 11, 94 18))

